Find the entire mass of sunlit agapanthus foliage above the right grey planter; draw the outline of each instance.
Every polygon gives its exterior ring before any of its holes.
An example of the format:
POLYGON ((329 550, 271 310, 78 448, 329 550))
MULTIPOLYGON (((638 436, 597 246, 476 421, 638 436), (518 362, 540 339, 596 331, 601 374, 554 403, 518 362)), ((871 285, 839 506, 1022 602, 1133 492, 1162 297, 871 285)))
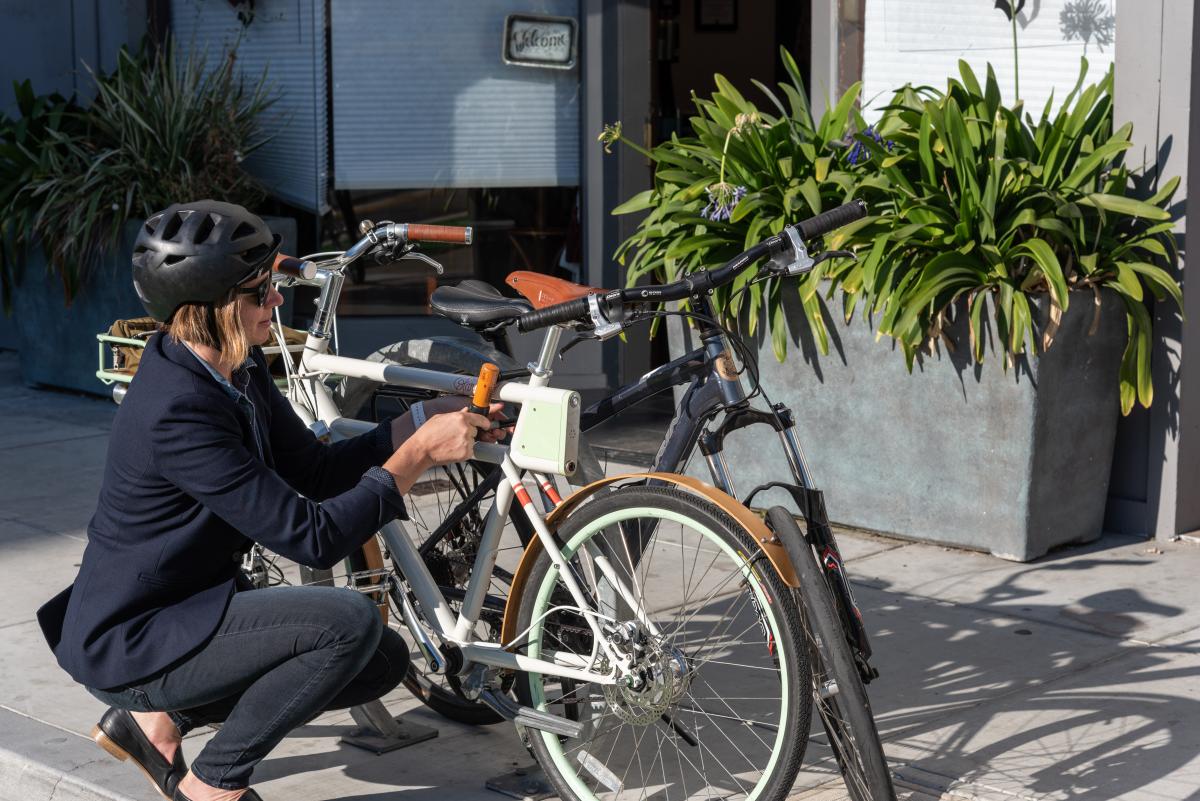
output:
MULTIPOLYGON (((646 151, 619 126, 601 134, 606 146, 622 141, 656 164, 654 187, 614 210, 649 211, 617 252, 630 283, 718 266, 785 224, 860 198, 870 216, 826 242, 856 251, 857 260, 826 261, 794 289, 822 353, 828 300, 846 320, 862 309, 901 345, 910 368, 956 313, 970 318, 974 359, 995 341, 1008 366, 1051 345, 1072 296, 1091 303, 1110 287, 1129 330, 1122 410, 1151 403, 1146 301, 1182 302, 1164 269, 1176 257, 1168 209, 1178 179, 1151 198, 1130 197, 1135 175, 1122 155, 1132 126, 1114 130, 1111 71, 1084 88, 1085 61, 1062 104, 1051 98, 1034 120, 1020 103, 1002 104, 990 67, 980 84, 960 62, 944 91, 905 86, 868 125, 857 85, 815 121, 794 61, 782 58, 786 106, 756 82, 778 115, 718 76, 709 98, 694 97, 695 137, 646 151), (1049 297, 1048 319, 1039 319, 1039 297, 1049 297)), ((782 360, 790 332, 781 300, 794 282, 746 281, 719 293, 716 307, 745 314, 750 333, 766 318, 782 360)))

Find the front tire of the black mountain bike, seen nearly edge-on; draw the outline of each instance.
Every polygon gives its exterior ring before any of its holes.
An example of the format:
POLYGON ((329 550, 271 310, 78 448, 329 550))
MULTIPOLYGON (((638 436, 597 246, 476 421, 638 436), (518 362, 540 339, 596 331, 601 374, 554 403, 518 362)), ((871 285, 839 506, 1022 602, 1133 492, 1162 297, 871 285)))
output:
MULTIPOLYGON (((776 530, 782 525, 794 525, 791 513, 778 506, 767 517, 776 530), (780 514, 787 519, 774 523, 780 514)), ((846 640, 833 595, 812 549, 805 547, 804 552, 810 558, 796 565, 796 573, 800 579, 798 594, 810 650, 812 704, 824 725, 850 797, 853 801, 895 801, 895 788, 892 787, 892 773, 875 728, 871 701, 846 640), (836 693, 822 697, 830 681, 836 685, 836 693)))

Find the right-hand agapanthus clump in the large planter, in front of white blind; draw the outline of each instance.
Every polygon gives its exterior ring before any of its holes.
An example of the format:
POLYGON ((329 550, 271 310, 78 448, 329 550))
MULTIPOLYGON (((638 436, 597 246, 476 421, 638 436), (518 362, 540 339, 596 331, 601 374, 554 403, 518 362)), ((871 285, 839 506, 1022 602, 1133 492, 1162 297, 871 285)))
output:
POLYGON ((955 309, 970 315, 977 360, 983 326, 991 325, 1010 363, 1050 347, 1073 295, 1086 293, 1090 302, 1110 287, 1124 301, 1129 330, 1122 410, 1150 405, 1145 301, 1153 294, 1182 302, 1163 269, 1175 258, 1168 206, 1178 179, 1148 199, 1128 195, 1134 176, 1122 153, 1133 126, 1114 131, 1111 70, 1084 88, 1086 71, 1085 61, 1057 110, 1051 98, 1034 121, 1020 106, 1001 104, 990 68, 980 85, 960 62, 961 80, 950 79, 944 92, 906 86, 895 95, 876 125, 894 146, 858 137, 884 182, 875 183, 876 216, 832 237, 863 259, 862 291, 842 289, 881 315, 878 331, 902 345, 910 367, 955 309), (1036 308, 1043 294, 1046 320, 1036 308))

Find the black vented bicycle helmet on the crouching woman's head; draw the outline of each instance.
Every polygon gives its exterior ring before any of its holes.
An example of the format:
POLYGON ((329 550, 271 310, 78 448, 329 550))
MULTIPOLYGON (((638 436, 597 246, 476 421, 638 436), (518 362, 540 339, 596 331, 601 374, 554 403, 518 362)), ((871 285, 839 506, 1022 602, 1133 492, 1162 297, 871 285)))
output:
POLYGON ((133 246, 133 289, 150 317, 214 303, 268 269, 280 249, 256 215, 232 203, 176 203, 146 219, 133 246))

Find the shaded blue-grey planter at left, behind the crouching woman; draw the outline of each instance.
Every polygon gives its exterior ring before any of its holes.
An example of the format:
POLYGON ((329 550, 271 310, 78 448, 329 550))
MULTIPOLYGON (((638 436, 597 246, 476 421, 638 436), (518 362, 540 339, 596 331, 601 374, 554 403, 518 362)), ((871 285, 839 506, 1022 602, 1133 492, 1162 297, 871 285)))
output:
MULTIPOLYGON (((266 222, 283 237, 283 249, 294 252, 295 221, 269 217, 266 222)), ((58 277, 47 272, 42 253, 29 254, 13 290, 12 318, 25 384, 108 395, 109 387, 96 378, 96 335, 113 320, 145 315, 130 278, 138 224, 125 224, 119 247, 104 254, 71 306, 58 277)))

